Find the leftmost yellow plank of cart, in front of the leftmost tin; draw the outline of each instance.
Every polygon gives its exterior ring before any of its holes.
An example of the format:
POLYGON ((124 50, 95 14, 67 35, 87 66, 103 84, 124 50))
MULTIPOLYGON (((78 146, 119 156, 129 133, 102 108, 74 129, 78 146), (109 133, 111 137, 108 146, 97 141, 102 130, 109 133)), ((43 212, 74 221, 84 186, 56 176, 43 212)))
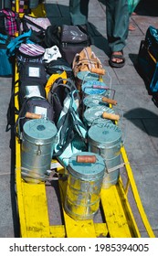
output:
POLYGON ((49 237, 49 220, 45 184, 28 184, 26 182, 22 182, 22 191, 26 217, 26 237, 49 237))

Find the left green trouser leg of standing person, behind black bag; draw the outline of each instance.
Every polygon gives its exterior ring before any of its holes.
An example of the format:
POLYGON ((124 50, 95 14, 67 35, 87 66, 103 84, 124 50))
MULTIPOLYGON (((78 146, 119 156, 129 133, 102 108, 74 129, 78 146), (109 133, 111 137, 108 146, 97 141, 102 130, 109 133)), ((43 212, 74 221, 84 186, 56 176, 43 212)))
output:
POLYGON ((83 25, 88 23, 90 0, 69 0, 69 14, 72 25, 83 25))

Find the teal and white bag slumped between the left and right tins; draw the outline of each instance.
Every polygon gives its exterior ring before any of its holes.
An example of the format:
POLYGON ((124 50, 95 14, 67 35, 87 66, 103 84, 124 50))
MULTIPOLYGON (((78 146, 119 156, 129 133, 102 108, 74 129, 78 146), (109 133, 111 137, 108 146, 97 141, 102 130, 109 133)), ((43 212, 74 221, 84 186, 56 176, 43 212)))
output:
POLYGON ((72 155, 87 151, 85 143, 87 130, 79 118, 75 94, 75 90, 68 91, 57 123, 58 141, 55 144, 53 157, 56 157, 64 166, 68 166, 68 159, 72 155))

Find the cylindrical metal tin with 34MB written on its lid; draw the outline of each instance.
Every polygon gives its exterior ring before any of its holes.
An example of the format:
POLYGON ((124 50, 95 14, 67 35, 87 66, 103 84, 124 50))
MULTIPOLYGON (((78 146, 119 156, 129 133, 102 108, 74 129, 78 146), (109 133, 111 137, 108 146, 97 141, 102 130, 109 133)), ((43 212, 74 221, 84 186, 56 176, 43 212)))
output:
POLYGON ((107 170, 121 165, 121 137, 121 129, 115 124, 95 124, 89 129, 89 151, 105 158, 106 169, 102 188, 109 188, 118 182, 120 169, 110 173, 107 170))

